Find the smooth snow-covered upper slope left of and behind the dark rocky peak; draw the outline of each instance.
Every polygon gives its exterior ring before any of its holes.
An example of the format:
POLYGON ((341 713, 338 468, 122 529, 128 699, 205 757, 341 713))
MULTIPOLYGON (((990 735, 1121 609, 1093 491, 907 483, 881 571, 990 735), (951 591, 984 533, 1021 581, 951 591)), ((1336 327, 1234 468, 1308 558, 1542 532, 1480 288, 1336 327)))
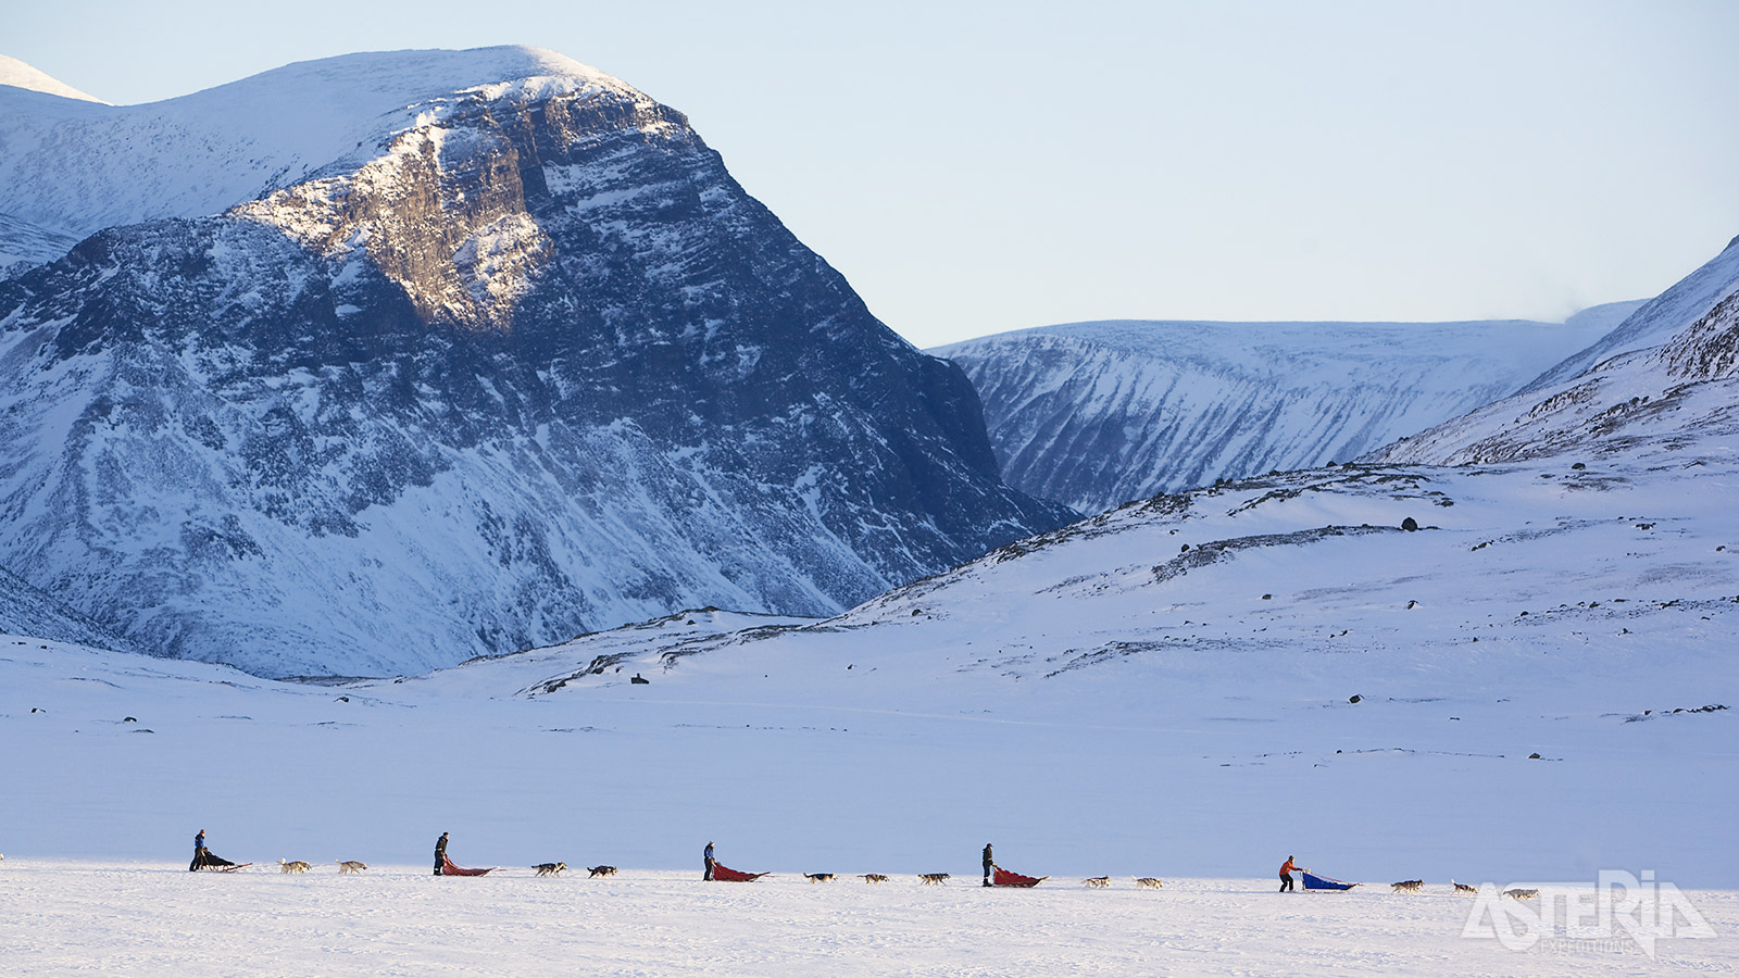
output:
POLYGON ((348 54, 136 106, 0 87, 0 214, 75 238, 203 218, 353 172, 456 104, 579 92, 633 89, 534 47, 348 54))

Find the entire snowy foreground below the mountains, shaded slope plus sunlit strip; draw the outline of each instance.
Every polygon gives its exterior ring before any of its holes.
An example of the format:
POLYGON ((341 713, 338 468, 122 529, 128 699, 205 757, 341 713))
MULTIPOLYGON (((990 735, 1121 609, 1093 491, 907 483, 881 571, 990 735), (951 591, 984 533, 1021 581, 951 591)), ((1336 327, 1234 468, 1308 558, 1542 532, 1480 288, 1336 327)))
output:
POLYGON ((1739 898, 1706 888, 1739 710, 1702 707, 1739 707, 1739 452, 1574 461, 1245 480, 833 620, 697 611, 402 680, 5 639, 0 945, 24 973, 1732 973, 1739 898), (186 874, 202 827, 261 865, 186 874), (443 830, 504 875, 424 877, 443 830), (776 875, 703 886, 708 841, 776 875), (986 841, 1050 879, 981 891, 986 841), (1367 886, 1268 893, 1289 854, 1367 886), (1716 936, 1518 952, 1449 896, 1602 870, 1696 891, 1716 936))

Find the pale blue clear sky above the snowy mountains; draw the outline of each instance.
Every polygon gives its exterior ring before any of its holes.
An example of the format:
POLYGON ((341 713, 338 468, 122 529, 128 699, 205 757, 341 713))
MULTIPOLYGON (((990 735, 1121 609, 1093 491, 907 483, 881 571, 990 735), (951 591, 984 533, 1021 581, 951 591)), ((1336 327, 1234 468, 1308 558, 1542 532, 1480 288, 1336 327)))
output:
POLYGON ((689 115, 920 346, 1087 318, 1563 318, 1739 235, 1739 3, 61 0, 115 103, 532 44, 689 115))

